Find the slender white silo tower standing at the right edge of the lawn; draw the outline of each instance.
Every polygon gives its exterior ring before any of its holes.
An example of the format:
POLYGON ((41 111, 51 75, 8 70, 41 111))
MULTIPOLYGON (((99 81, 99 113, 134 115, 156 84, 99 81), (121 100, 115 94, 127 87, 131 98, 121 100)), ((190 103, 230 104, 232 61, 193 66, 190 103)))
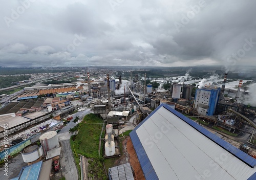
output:
POLYGON ((112 134, 113 126, 112 124, 106 125, 106 142, 105 142, 105 155, 111 156, 115 154, 115 143, 114 143, 114 136, 112 134))

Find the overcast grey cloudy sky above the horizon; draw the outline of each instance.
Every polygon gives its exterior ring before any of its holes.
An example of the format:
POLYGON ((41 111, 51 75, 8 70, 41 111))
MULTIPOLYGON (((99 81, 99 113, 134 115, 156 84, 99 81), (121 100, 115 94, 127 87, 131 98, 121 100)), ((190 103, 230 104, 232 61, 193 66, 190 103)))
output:
POLYGON ((256 1, 0 2, 0 66, 256 65, 256 1))

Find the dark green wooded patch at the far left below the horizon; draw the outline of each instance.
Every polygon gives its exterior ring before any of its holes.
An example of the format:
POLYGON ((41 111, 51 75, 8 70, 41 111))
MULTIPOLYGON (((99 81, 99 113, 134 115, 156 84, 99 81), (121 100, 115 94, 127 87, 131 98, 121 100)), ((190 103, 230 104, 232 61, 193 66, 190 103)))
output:
POLYGON ((29 75, 19 75, 19 76, 0 76, 0 88, 10 87, 14 84, 12 82, 28 80, 29 75))

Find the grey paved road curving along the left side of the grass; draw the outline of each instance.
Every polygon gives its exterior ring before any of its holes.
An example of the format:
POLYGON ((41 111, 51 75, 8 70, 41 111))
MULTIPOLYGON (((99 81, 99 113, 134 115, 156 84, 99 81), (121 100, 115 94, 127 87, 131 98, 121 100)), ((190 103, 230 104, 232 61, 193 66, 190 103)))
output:
MULTIPOLYGON (((83 118, 87 114, 92 113, 90 109, 86 109, 81 112, 77 112, 73 114, 73 119, 78 116, 80 118, 83 118)), ((65 175, 66 179, 78 179, 78 174, 77 174, 77 168, 75 165, 75 160, 74 160, 74 154, 71 150, 70 147, 70 137, 71 134, 69 133, 69 129, 73 128, 76 124, 72 122, 71 120, 70 123, 68 123, 65 127, 61 129, 61 131, 58 133, 58 139, 59 142, 61 143, 61 149, 62 149, 62 158, 60 159, 59 163, 61 166, 61 172, 63 175, 65 175)), ((79 172, 80 173, 80 172, 79 172)))

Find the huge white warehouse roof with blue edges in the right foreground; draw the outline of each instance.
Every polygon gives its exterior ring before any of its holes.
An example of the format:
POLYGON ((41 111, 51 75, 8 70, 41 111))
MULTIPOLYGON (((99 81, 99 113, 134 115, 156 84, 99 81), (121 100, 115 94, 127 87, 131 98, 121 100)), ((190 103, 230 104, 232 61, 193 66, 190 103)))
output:
POLYGON ((164 104, 130 136, 146 179, 248 179, 256 171, 251 156, 164 104))

